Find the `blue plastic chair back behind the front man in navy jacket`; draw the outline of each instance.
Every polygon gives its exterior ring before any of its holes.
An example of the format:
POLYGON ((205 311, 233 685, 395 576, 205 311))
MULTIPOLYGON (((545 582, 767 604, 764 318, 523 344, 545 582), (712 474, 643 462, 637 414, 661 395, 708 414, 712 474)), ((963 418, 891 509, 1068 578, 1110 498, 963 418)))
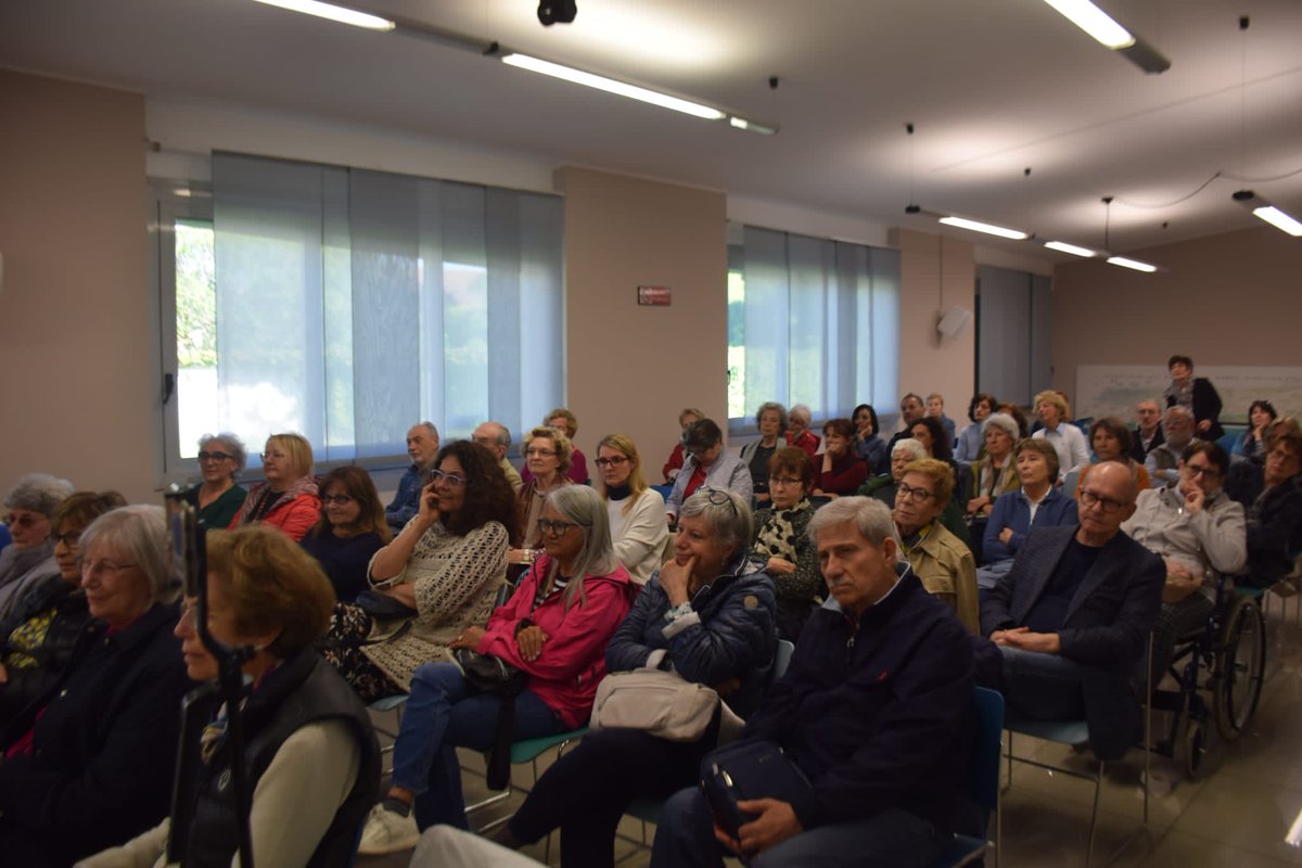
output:
POLYGON ((1004 696, 995 690, 978 687, 973 699, 976 705, 976 739, 967 769, 963 773, 963 798, 971 804, 973 815, 980 817, 970 829, 960 829, 953 841, 934 863, 935 868, 970 865, 986 855, 990 841, 990 815, 995 813, 995 865, 1003 848, 1003 817, 999 811, 999 768, 1003 753, 1004 696))

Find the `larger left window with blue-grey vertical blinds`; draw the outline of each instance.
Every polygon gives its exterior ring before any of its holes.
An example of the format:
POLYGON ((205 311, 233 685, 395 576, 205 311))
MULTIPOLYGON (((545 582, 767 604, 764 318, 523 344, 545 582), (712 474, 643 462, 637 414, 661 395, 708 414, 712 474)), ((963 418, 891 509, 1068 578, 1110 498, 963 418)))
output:
POLYGON ((559 197, 214 154, 211 243, 216 351, 178 372, 206 393, 172 405, 177 459, 206 431, 398 459, 414 422, 518 432, 564 402, 559 197))

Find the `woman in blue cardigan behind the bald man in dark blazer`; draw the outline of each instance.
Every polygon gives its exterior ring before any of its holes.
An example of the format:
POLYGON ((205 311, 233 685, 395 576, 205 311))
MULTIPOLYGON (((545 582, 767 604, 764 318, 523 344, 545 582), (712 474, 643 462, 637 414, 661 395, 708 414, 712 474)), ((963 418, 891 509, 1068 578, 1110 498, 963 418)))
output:
POLYGON ((982 539, 984 563, 976 569, 982 601, 1013 558, 1027 534, 1040 527, 1077 523, 1077 505, 1057 483, 1057 450, 1044 440, 1022 440, 1013 449, 1021 487, 999 496, 982 539))

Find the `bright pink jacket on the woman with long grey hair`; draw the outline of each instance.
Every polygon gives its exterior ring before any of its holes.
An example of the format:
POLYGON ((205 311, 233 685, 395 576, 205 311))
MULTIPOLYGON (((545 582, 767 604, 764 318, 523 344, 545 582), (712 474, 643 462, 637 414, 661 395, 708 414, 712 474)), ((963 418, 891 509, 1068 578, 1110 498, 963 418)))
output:
POLYGON ((565 726, 578 729, 592 713, 596 685, 605 675, 605 644, 629 613, 637 584, 620 566, 608 575, 585 578, 586 604, 575 595, 566 610, 564 593, 552 593, 530 614, 549 565, 546 554, 534 562, 506 605, 488 618, 487 632, 475 651, 527 671, 529 690, 553 708, 565 726), (516 645, 516 629, 525 618, 547 634, 538 660, 523 660, 516 645))

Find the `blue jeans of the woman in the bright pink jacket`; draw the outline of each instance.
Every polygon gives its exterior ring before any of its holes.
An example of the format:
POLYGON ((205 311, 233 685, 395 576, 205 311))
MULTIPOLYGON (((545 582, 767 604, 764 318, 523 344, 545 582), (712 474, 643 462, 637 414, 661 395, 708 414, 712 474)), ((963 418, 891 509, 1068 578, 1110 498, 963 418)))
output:
MULTIPOLYGON (((456 664, 424 664, 415 670, 393 743, 393 786, 417 795, 415 820, 422 829, 439 822, 467 828, 456 748, 490 750, 499 705, 500 696, 477 694, 456 664)), ((526 690, 516 698, 514 740, 564 729, 538 694, 526 690)))

